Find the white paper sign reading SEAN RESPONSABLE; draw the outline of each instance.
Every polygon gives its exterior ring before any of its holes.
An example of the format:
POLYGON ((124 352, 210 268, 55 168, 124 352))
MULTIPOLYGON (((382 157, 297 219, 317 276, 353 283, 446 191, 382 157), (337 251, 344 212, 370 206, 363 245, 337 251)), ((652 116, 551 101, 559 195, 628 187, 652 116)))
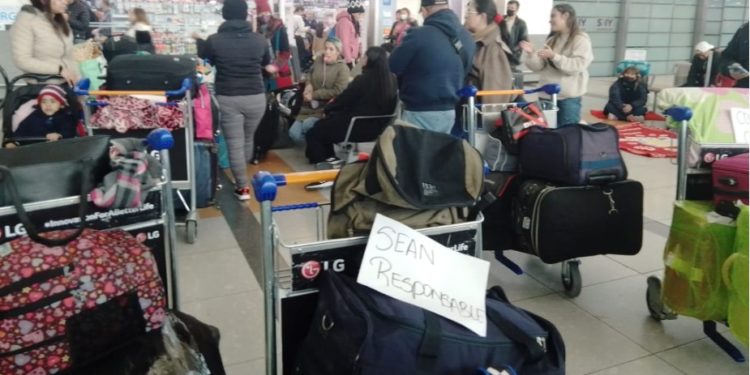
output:
POLYGON ((490 263, 454 252, 383 215, 375 217, 357 282, 485 337, 490 263))

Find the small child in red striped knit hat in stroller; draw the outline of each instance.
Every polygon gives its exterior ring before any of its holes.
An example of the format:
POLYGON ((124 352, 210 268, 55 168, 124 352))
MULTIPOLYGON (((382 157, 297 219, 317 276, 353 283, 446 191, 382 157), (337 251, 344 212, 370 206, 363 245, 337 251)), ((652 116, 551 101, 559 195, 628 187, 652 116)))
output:
POLYGON ((67 110, 65 91, 56 85, 47 85, 37 96, 37 105, 13 131, 14 139, 46 138, 57 141, 76 136, 76 120, 67 110))

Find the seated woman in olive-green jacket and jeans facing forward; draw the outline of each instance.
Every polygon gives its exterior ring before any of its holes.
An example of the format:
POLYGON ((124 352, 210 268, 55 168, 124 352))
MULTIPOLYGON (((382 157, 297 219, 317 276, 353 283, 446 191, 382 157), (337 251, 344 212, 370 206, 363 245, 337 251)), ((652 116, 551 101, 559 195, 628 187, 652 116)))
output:
POLYGON ((304 142, 305 134, 323 118, 326 103, 349 85, 349 67, 341 59, 342 48, 340 40, 328 39, 322 57, 313 63, 302 94, 302 108, 289 128, 289 137, 297 143, 304 142))

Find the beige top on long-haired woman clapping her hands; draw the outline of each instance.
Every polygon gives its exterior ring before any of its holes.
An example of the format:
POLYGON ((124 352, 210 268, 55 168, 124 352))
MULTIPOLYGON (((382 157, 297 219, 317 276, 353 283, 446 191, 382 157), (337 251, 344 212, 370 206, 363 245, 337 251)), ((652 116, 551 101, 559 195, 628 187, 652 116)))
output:
MULTIPOLYGON (((550 61, 540 58, 536 51, 523 54, 526 66, 539 72, 539 84, 560 84, 560 99, 577 98, 586 93, 589 84, 589 65, 594 61, 591 39, 586 33, 575 36, 568 48, 565 47, 568 37, 562 36, 552 48, 557 55, 550 61)), ((550 40, 547 40, 547 45, 550 40)))

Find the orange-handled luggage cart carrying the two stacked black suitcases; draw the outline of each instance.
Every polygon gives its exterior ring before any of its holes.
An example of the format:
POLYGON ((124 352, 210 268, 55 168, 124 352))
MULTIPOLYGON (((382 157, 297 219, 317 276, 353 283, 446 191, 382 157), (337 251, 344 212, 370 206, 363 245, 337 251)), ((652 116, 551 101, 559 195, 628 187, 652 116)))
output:
MULTIPOLYGON (((557 94, 560 93, 560 85, 548 84, 535 89, 529 90, 491 90, 491 91, 478 91, 474 86, 468 86, 463 88, 459 95, 468 99, 468 104, 464 107, 464 131, 469 134, 469 143, 476 147, 482 154, 484 154, 483 136, 486 137, 488 128, 494 126, 495 121, 500 117, 500 113, 510 107, 517 106, 524 103, 493 103, 493 104, 477 104, 476 98, 483 96, 493 95, 528 95, 543 92, 551 96, 551 106, 549 108, 543 108, 547 126, 550 128, 557 127, 557 94), (479 124, 477 123, 479 121, 479 124), (481 127, 480 127, 481 126, 481 127)), ((515 262, 510 260, 508 257, 503 255, 502 250, 495 251, 495 259, 498 260, 502 265, 508 267, 517 275, 523 274, 523 269, 515 262)), ((581 294, 581 287, 583 281, 581 278, 581 271, 579 266, 581 261, 579 259, 570 259, 561 263, 560 279, 565 289, 565 294, 569 297, 577 297, 581 294)))

